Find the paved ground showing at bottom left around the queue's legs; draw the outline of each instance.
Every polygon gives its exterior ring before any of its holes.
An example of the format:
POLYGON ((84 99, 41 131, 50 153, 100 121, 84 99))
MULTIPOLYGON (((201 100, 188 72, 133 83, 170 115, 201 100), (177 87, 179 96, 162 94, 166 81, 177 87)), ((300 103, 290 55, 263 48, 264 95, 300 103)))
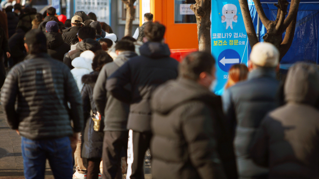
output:
MULTIPOLYGON (((6 125, 0 107, 0 179, 24 179, 20 145, 20 136, 6 125)), ((152 179, 149 152, 145 159, 145 179, 152 179)), ((54 179, 48 162, 46 163, 45 179, 54 179)))

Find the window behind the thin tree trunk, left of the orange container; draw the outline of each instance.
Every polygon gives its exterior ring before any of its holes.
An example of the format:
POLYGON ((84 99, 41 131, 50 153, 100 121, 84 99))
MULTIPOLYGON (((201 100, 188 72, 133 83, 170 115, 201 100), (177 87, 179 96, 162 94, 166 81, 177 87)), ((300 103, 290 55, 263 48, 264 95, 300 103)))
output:
MULTIPOLYGON (((133 24, 139 25, 140 24, 140 0, 136 0, 134 2, 135 8, 135 17, 133 20, 133 24)), ((122 0, 118 0, 118 20, 119 24, 125 24, 126 22, 126 5, 122 2, 122 0)))

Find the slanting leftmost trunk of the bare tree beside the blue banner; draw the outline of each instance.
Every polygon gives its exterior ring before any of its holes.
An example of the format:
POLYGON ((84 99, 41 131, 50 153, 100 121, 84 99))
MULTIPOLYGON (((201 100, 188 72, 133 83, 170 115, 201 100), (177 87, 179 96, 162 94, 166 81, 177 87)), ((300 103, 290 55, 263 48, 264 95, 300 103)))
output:
POLYGON ((239 0, 239 5, 240 5, 241 13, 244 19, 244 24, 245 24, 249 44, 250 44, 250 47, 253 48, 253 46, 259 41, 256 35, 253 20, 250 15, 248 2, 247 0, 239 0))

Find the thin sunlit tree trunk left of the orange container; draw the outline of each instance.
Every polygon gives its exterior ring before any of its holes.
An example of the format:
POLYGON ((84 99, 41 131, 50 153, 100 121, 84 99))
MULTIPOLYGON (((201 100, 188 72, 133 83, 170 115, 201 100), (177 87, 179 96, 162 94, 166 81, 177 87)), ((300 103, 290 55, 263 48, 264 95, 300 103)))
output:
POLYGON ((124 36, 132 36, 133 20, 135 16, 134 2, 136 0, 122 0, 126 4, 126 22, 124 36))

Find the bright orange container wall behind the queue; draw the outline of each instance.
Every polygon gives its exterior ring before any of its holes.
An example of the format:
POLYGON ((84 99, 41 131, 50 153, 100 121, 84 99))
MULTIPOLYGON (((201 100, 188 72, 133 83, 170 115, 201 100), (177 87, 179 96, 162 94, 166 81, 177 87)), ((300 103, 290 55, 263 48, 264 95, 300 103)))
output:
MULTIPOLYGON (((170 49, 198 49, 197 25, 174 23, 174 0, 151 0, 154 21, 166 26, 165 43, 170 49)), ((141 22, 144 14, 140 14, 141 22)))

